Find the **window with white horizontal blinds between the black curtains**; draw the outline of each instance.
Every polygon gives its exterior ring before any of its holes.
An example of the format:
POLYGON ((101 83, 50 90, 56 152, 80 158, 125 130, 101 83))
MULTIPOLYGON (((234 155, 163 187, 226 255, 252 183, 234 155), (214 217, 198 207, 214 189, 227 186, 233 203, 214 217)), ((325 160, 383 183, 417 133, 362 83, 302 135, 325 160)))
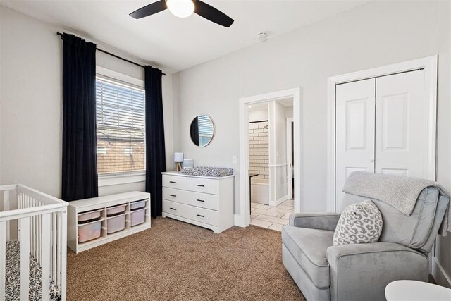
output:
POLYGON ((144 90, 97 77, 97 171, 145 169, 144 90))

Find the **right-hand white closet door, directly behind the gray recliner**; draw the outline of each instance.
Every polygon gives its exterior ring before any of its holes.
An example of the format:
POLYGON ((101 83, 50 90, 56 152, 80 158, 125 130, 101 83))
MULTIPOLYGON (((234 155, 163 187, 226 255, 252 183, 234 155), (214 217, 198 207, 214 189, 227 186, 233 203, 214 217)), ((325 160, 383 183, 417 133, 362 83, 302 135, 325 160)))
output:
POLYGON ((424 70, 376 79, 376 173, 426 177, 424 70))

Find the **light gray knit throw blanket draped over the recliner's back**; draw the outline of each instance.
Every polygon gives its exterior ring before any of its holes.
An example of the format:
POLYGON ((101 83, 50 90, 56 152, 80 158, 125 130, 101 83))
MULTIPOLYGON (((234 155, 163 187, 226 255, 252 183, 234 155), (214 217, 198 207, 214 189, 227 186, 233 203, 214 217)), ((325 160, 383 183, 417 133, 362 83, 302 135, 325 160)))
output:
MULTIPOLYGON (((343 192, 362 197, 378 199, 409 216, 414 211, 416 199, 424 188, 438 188, 440 195, 450 197, 450 193, 440 183, 432 180, 406 176, 383 175, 354 171, 347 178, 343 192)), ((451 206, 448 204, 439 234, 451 232, 451 206)))

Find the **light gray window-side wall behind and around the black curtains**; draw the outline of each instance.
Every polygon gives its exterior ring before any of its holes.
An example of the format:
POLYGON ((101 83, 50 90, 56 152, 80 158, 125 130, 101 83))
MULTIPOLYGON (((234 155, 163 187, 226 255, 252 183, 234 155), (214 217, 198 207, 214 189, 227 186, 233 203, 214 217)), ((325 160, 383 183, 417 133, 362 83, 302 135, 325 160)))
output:
MULTIPOLYGON (((59 197, 63 44, 56 31, 65 30, 0 6, 0 184, 22 183, 59 197)), ((108 45, 97 46, 145 63, 108 45)), ((99 52, 97 65, 144 79, 143 68, 99 52)), ((173 164, 172 91, 168 74, 163 77, 168 166, 173 164)), ((144 190, 144 182, 103 187, 99 193, 128 190, 144 190)))

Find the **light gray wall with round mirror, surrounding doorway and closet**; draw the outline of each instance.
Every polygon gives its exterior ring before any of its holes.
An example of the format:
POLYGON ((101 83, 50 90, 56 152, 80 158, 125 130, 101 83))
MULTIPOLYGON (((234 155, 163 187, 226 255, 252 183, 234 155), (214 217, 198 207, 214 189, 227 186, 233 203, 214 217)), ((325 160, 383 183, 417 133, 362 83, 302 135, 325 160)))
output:
MULTIPOLYGON (((238 99, 301 87, 302 211, 326 211, 327 78, 438 54, 438 180, 450 179, 450 3, 373 1, 174 75, 174 141, 194 163, 239 166, 238 99), (192 144, 190 121, 213 118, 208 147, 192 144)), ((235 177, 235 213, 240 213, 235 177)), ((450 275, 451 240, 440 240, 440 263, 450 275)))

